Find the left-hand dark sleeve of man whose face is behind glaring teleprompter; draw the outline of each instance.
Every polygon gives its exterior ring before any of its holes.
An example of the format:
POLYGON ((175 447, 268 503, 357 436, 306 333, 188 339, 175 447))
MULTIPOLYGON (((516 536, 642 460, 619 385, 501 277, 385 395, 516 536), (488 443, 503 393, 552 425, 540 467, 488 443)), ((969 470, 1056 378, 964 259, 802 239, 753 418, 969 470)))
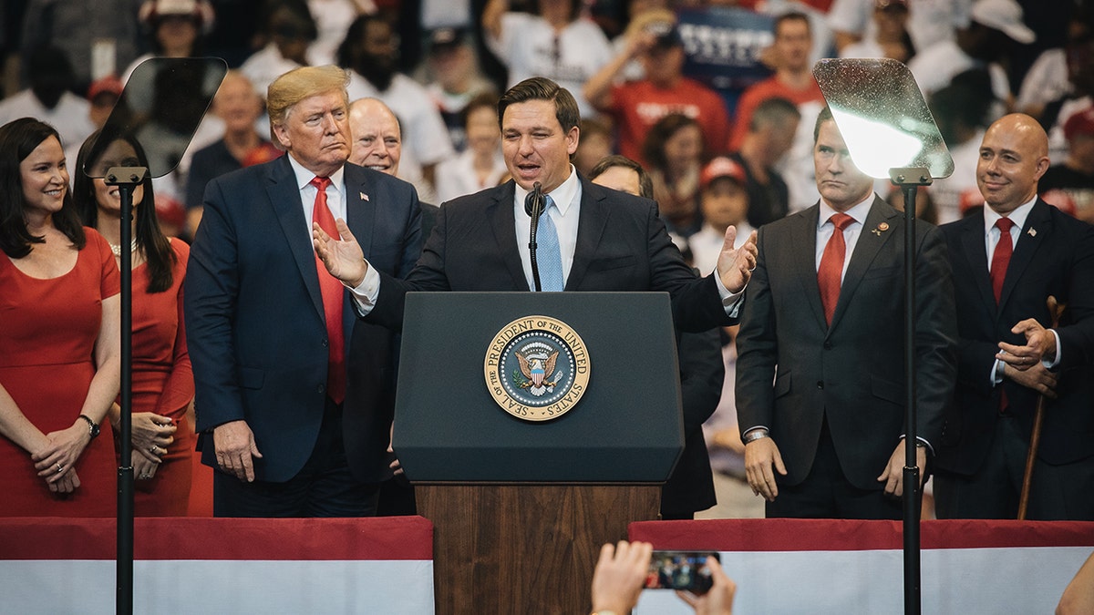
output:
POLYGON ((734 384, 737 423, 741 432, 757 426, 771 427, 775 408, 775 368, 778 344, 775 334, 775 305, 768 278, 765 252, 766 229, 760 227, 756 243, 756 270, 745 289, 745 305, 737 334, 737 365, 734 384))

